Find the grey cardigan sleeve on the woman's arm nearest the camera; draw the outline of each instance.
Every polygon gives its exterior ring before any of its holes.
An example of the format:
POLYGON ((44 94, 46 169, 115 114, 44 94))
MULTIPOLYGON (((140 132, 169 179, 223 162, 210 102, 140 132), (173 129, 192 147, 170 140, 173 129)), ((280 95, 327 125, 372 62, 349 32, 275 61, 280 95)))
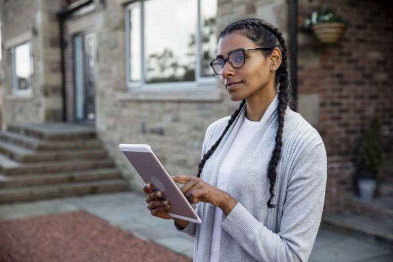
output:
POLYGON ((258 261, 307 261, 321 221, 326 187, 326 151, 316 145, 294 167, 278 232, 274 233, 238 203, 221 228, 258 261))

